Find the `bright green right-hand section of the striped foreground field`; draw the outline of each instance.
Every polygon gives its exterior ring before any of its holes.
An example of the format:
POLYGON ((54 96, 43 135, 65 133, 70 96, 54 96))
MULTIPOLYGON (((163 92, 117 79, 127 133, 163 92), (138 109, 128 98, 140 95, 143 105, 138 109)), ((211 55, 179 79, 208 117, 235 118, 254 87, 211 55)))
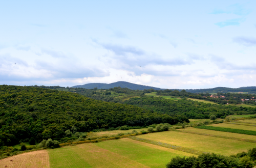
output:
POLYGON ((95 145, 149 167, 164 167, 165 164, 169 162, 170 158, 191 155, 177 150, 167 151, 163 147, 154 145, 151 145, 153 146, 151 147, 146 143, 137 143, 137 141, 129 138, 123 138, 116 141, 105 141, 95 145))

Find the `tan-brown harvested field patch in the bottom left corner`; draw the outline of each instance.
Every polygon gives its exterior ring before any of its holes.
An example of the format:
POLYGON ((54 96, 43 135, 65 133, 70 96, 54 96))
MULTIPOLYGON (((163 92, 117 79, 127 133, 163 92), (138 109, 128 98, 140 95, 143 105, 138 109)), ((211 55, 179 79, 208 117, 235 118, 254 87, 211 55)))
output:
POLYGON ((46 150, 27 152, 0 160, 0 168, 5 166, 8 168, 50 168, 49 155, 46 150))

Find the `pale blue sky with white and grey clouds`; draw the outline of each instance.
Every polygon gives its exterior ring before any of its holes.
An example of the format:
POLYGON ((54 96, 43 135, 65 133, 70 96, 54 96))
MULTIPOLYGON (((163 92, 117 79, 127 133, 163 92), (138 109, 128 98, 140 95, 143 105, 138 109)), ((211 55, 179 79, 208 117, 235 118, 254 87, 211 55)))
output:
POLYGON ((0 85, 256 86, 256 1, 2 1, 0 85))

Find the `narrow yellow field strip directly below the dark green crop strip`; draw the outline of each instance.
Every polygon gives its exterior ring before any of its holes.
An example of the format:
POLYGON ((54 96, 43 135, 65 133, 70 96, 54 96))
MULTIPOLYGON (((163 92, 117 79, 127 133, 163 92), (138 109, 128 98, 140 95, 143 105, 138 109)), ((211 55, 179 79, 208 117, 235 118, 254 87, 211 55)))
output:
POLYGON ((185 128, 185 129, 179 129, 179 131, 205 133, 205 134, 210 134, 210 135, 220 135, 220 136, 235 137, 235 138, 241 138, 241 139, 250 139, 250 140, 256 141, 256 136, 254 136, 254 135, 245 135, 245 134, 239 134, 239 133, 213 131, 213 130, 192 128, 192 127, 185 128))

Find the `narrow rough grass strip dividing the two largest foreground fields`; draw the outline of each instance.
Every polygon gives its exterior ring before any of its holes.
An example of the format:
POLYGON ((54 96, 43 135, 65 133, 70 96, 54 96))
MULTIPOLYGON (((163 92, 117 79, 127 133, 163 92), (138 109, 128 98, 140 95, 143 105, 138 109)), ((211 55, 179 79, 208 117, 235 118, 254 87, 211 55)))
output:
POLYGON ((196 149, 190 149, 190 148, 186 148, 186 147, 180 147, 180 146, 176 146, 176 145, 161 143, 161 142, 144 139, 144 138, 140 138, 140 137, 136 137, 136 136, 130 136, 129 138, 131 138, 135 141, 140 141, 143 143, 148 143, 148 144, 153 144, 153 145, 157 145, 157 146, 161 146, 161 147, 165 147, 165 148, 175 149, 178 151, 183 151, 183 152, 192 153, 192 154, 196 154, 196 155, 200 155, 202 153, 205 153, 205 154, 208 153, 208 152, 203 152, 203 151, 199 151, 196 149))

